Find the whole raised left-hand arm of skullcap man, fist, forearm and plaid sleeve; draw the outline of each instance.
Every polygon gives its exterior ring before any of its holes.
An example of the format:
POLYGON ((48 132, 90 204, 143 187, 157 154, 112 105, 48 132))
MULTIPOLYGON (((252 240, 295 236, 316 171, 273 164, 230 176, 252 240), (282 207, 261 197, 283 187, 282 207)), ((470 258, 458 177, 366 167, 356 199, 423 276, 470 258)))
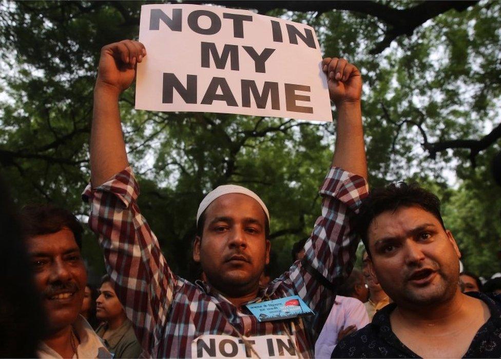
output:
POLYGON ((90 141, 90 228, 99 234, 106 270, 146 356, 156 356, 177 277, 137 204, 139 186, 128 167, 118 99, 146 55, 130 40, 103 47, 94 90, 90 141))

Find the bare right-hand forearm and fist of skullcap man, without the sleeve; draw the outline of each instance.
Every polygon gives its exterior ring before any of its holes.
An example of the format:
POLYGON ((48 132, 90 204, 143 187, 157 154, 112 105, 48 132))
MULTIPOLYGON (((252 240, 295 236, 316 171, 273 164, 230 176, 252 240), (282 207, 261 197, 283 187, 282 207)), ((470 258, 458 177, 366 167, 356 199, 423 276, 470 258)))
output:
POLYGON ((329 94, 338 115, 332 165, 367 179, 360 108, 362 76, 353 64, 337 57, 324 58, 323 71, 327 74, 329 94))

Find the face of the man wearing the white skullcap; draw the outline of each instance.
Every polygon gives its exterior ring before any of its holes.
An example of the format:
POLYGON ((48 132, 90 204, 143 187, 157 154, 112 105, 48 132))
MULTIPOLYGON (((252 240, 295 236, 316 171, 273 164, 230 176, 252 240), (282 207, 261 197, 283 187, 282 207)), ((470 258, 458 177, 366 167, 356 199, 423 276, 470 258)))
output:
POLYGON ((240 193, 217 198, 205 211, 203 238, 196 238, 193 258, 223 293, 240 296, 257 287, 269 262, 259 203, 240 193))

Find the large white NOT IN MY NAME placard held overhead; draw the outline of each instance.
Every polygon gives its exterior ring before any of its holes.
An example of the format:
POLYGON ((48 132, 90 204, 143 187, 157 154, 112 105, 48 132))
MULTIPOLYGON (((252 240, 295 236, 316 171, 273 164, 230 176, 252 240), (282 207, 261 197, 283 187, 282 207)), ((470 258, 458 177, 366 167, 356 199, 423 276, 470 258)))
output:
POLYGON ((216 6, 141 7, 136 109, 332 121, 312 27, 216 6))

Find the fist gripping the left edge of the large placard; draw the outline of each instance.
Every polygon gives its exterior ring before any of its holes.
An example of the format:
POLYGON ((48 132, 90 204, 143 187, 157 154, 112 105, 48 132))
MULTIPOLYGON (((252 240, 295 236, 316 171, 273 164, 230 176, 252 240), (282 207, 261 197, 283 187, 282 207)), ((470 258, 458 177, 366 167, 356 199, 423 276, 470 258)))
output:
POLYGON ((95 86, 116 91, 119 95, 134 81, 136 65, 143 61, 144 56, 146 49, 137 41, 124 40, 104 46, 101 49, 95 86))

